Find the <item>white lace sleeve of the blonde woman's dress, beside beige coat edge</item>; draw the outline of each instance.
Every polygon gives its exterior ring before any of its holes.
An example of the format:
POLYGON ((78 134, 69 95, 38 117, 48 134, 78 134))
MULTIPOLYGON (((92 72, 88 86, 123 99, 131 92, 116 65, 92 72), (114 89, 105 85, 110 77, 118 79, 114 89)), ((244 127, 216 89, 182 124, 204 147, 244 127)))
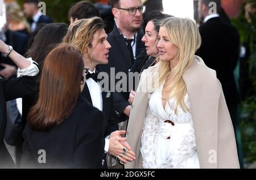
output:
POLYGON ((157 168, 155 162, 155 135, 158 131, 158 119, 151 113, 150 107, 147 108, 146 118, 144 119, 143 133, 141 139, 142 165, 145 169, 157 168))

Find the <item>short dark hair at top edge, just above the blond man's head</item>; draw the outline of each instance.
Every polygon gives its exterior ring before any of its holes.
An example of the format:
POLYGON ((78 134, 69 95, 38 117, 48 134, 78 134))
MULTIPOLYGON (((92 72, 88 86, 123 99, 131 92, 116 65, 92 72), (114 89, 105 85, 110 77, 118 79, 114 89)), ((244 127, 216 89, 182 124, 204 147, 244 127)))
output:
POLYGON ((100 17, 100 12, 90 1, 80 1, 71 7, 68 13, 68 19, 88 19, 94 16, 100 17))

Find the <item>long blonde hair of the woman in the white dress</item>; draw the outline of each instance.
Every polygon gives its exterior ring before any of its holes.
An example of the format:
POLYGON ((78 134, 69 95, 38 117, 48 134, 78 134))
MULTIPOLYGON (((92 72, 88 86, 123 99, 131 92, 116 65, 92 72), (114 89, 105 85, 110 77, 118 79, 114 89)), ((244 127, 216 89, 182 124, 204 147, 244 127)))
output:
POLYGON ((185 95, 187 87, 183 81, 183 74, 189 65, 192 64, 195 53, 201 45, 201 36, 197 29, 196 23, 188 18, 166 18, 160 24, 167 31, 168 39, 172 44, 175 44, 179 51, 175 57, 178 60, 174 69, 171 69, 170 62, 160 61, 158 66, 159 81, 155 85, 159 87, 166 81, 166 78, 171 75, 172 83, 167 84, 166 91, 168 94, 166 100, 175 98, 175 114, 177 107, 180 106, 184 112, 189 111, 185 105, 185 95))

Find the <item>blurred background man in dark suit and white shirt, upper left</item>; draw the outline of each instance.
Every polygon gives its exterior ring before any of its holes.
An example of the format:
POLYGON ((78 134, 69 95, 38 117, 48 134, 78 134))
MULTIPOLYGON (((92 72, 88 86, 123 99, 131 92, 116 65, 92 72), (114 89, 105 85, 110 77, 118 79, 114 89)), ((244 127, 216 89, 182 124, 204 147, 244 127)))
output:
POLYGON ((53 23, 52 19, 47 15, 43 15, 38 9, 38 0, 24 0, 23 9, 24 14, 28 18, 31 31, 35 31, 37 24, 40 23, 53 23))

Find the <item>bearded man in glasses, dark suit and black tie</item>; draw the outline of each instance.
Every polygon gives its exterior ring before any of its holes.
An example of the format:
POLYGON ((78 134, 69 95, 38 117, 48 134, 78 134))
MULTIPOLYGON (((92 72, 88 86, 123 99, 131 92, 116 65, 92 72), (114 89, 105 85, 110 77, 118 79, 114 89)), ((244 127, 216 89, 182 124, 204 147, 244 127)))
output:
MULTIPOLYGON (((128 74, 136 57, 145 49, 141 41, 143 37, 141 24, 146 7, 140 0, 113 0, 110 1, 110 5, 115 26, 108 35, 108 41, 112 45, 109 51, 109 66, 114 68, 115 74, 119 72, 128 74)), ((110 69, 105 71, 110 74, 110 69)), ((124 91, 130 92, 129 89, 124 91)), ((119 122, 127 120, 130 114, 131 105, 128 99, 129 93, 114 93, 115 110, 119 116, 119 122)))

